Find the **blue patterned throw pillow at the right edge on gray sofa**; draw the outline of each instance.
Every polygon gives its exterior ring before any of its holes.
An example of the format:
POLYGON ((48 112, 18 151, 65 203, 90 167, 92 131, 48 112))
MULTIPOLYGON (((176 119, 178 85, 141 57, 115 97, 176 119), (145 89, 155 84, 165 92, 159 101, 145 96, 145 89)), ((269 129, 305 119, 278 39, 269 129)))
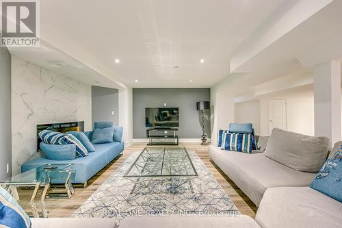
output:
POLYGON ((326 160, 310 187, 342 203, 342 146, 326 160))

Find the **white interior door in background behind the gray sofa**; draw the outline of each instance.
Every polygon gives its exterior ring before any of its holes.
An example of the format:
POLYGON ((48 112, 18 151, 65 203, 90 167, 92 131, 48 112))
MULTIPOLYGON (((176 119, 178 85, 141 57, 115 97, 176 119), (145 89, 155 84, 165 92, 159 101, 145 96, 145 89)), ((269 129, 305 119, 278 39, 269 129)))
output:
POLYGON ((276 127, 286 130, 285 100, 268 100, 268 134, 276 127))

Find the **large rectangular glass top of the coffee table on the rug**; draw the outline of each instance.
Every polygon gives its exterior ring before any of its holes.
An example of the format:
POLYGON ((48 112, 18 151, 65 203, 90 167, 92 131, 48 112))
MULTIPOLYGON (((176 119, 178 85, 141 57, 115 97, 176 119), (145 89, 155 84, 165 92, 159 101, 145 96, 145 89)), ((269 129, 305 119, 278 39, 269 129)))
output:
POLYGON ((197 176, 184 147, 144 148, 124 177, 191 177, 197 176))

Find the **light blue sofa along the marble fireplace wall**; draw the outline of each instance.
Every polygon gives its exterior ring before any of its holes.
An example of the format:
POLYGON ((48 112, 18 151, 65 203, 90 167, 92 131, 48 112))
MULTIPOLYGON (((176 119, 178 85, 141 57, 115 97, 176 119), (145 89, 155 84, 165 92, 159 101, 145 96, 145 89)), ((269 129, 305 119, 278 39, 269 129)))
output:
MULTIPOLYGON (((92 131, 84 132, 91 139, 92 131)), ((86 157, 77 157, 74 160, 49 160, 47 157, 39 157, 35 160, 27 161, 21 166, 21 172, 25 172, 37 166, 44 164, 75 164, 75 175, 72 177, 72 183, 86 183, 88 179, 103 169, 109 162, 114 160, 123 150, 124 142, 111 142, 105 144, 94 144, 95 151, 90 152, 86 157)), ((62 183, 53 181, 53 183, 62 183)))

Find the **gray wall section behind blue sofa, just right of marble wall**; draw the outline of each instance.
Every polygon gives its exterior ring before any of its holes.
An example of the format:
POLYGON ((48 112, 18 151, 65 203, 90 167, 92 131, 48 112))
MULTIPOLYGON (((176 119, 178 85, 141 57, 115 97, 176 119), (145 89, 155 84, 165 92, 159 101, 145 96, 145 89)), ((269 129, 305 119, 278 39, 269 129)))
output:
POLYGON ((93 127, 95 121, 112 121, 115 126, 119 125, 119 90, 92 86, 93 127))

